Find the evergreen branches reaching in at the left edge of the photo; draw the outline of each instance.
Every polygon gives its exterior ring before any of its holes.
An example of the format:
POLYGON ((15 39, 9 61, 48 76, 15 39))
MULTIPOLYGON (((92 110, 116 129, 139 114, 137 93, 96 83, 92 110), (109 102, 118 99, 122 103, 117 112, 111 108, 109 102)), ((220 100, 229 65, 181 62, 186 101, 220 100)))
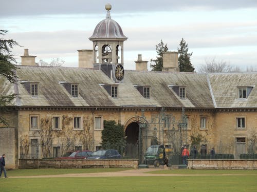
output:
MULTIPOLYGON (((6 30, 0 30, 0 35, 5 35, 7 33, 6 30)), ((19 46, 19 44, 13 39, 3 39, 0 38, 0 77, 4 76, 8 81, 15 83, 16 75, 15 66, 16 60, 14 56, 11 54, 11 49, 14 46, 19 46)), ((6 106, 11 103, 11 101, 15 98, 15 95, 2 95, 0 94, 0 110, 7 110, 6 106)), ((0 123, 8 126, 8 121, 0 116, 0 123)))

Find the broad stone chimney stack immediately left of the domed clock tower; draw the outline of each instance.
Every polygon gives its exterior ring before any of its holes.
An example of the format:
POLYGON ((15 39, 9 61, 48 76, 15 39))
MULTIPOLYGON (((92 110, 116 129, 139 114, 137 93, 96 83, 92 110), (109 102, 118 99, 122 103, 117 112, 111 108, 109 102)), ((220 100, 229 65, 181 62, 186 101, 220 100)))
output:
POLYGON ((82 49, 79 52, 79 68, 94 68, 93 50, 82 49))

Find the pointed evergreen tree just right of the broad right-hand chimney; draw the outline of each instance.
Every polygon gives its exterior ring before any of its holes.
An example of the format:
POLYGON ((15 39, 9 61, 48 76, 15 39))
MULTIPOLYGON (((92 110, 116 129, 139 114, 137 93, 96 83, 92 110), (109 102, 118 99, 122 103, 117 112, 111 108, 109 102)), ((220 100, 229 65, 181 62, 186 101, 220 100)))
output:
POLYGON ((178 67, 180 72, 194 72, 194 67, 190 61, 190 57, 193 53, 188 53, 188 44, 182 38, 179 44, 178 50, 178 67))

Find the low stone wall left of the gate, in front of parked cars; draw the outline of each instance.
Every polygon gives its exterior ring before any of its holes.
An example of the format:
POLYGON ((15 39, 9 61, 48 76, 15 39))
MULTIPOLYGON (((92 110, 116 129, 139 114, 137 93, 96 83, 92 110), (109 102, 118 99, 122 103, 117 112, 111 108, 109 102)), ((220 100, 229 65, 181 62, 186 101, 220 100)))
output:
POLYGON ((138 159, 20 159, 19 168, 137 168, 138 159))

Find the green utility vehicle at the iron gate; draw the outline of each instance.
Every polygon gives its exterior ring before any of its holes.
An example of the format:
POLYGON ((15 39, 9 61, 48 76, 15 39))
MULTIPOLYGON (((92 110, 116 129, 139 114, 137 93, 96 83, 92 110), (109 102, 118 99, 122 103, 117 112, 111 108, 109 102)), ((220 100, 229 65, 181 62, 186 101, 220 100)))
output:
POLYGON ((151 145, 146 150, 144 160, 148 165, 159 167, 160 165, 171 166, 171 163, 166 156, 166 151, 163 145, 151 145))

